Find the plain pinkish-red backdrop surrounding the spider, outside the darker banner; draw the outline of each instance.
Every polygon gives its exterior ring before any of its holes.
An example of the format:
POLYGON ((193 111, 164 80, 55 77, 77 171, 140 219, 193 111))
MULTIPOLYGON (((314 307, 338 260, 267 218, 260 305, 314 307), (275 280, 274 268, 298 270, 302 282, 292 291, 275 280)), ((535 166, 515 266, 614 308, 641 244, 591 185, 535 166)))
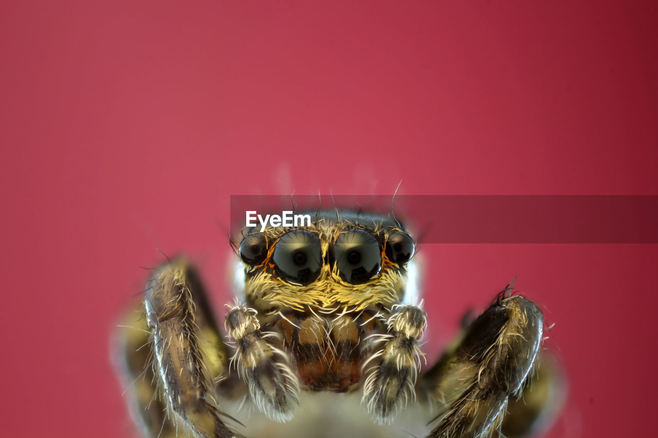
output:
MULTIPOLYGON (((231 194, 658 195, 657 11, 580 3, 3 2, 3 435, 130 436, 109 333, 158 249, 228 299, 231 194)), ((653 431, 656 245, 422 253, 434 354, 518 276, 550 436, 653 431)))

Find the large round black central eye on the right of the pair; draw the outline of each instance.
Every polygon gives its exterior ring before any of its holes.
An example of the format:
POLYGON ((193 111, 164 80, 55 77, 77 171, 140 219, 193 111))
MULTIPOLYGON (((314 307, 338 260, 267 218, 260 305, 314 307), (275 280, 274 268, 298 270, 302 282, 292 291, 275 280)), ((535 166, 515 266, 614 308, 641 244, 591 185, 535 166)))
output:
POLYGON ((353 284, 370 280, 382 266, 377 239, 363 230, 341 234, 334 245, 334 256, 341 278, 353 284))

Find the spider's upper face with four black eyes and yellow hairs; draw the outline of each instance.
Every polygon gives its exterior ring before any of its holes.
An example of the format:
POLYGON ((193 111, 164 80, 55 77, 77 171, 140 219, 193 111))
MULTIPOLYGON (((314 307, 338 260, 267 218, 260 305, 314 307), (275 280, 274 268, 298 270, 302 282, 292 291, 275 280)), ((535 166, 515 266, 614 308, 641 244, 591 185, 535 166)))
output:
POLYGON ((304 226, 245 232, 247 302, 260 310, 391 306, 405 293, 415 242, 386 216, 320 211, 304 226))

